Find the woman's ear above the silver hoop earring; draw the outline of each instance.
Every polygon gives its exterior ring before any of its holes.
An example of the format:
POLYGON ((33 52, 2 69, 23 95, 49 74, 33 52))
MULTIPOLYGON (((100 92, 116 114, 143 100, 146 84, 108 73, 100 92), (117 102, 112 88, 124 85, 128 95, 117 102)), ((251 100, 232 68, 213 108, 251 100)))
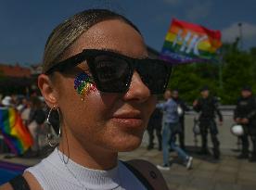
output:
POLYGON ((39 75, 37 84, 42 95, 45 97, 47 106, 49 108, 58 106, 56 89, 53 87, 53 82, 50 80, 49 76, 45 74, 39 75))

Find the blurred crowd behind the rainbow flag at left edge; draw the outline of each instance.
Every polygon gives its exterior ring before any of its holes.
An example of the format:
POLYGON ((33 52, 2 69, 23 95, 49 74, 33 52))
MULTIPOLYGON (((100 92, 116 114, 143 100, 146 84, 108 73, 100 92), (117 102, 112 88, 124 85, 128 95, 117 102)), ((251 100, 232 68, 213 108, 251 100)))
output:
MULTIPOLYGON (((19 157, 35 158, 40 155, 40 149, 46 144, 45 129, 45 100, 42 96, 36 95, 5 95, 0 101, 0 108, 15 108, 18 110, 23 125, 32 135, 33 145, 19 157), (42 138, 40 138, 42 137, 42 138)), ((1 134, 1 132, 0 132, 1 134)), ((2 142, 3 143, 3 142, 2 142)), ((8 146, 4 144, 2 151, 9 152, 8 146)), ((6 156, 8 158, 9 156, 6 156)))

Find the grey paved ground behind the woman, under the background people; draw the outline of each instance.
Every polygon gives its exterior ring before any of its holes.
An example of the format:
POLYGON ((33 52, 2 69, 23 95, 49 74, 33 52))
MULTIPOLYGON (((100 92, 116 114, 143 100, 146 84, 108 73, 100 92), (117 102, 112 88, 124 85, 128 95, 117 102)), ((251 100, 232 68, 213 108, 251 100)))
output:
MULTIPOLYGON (((235 158, 237 152, 222 150, 222 158, 216 162, 211 157, 202 157, 196 154, 195 148, 188 147, 189 154, 194 157, 193 169, 186 170, 177 159, 175 153, 170 154, 173 162, 170 171, 162 171, 171 190, 255 190, 256 189, 256 163, 235 158)), ((161 152, 157 149, 147 151, 143 144, 133 152, 121 153, 123 160, 143 158, 154 164, 162 161, 161 152)), ((4 155, 0 155, 4 159, 4 155)), ((11 158, 8 161, 33 165, 40 159, 11 158)))

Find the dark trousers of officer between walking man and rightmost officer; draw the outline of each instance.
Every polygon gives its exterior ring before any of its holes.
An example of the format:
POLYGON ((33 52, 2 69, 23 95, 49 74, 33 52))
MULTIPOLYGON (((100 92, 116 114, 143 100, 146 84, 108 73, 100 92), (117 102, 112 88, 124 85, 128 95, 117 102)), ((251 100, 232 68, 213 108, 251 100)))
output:
POLYGON ((201 140, 202 140, 202 146, 201 150, 202 151, 208 151, 208 131, 211 133, 211 142, 213 145, 213 154, 216 156, 219 154, 219 146, 220 142, 218 140, 217 134, 218 134, 218 129, 217 125, 215 123, 215 120, 200 120, 199 123, 200 127, 200 134, 201 134, 201 140))

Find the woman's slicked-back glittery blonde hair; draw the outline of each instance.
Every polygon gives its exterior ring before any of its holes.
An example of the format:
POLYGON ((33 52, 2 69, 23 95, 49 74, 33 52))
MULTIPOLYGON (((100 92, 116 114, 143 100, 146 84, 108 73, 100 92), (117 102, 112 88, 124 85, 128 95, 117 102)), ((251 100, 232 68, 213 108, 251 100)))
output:
MULTIPOLYGON (((139 32, 129 20, 108 9, 88 9, 60 23, 49 35, 45 44, 43 72, 50 70, 61 59, 65 50, 96 23, 107 19, 121 19, 139 32)), ((140 33, 140 32, 139 32, 140 33)))

